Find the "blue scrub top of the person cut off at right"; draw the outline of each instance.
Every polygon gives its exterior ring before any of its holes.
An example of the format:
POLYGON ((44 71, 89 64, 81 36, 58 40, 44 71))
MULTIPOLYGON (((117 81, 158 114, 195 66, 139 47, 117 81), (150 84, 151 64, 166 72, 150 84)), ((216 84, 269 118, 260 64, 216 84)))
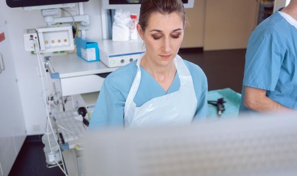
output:
MULTIPOLYGON (((249 39, 243 85, 266 90, 268 98, 297 109, 296 54, 297 29, 275 12, 249 39)), ((242 96, 240 111, 248 110, 242 96)))

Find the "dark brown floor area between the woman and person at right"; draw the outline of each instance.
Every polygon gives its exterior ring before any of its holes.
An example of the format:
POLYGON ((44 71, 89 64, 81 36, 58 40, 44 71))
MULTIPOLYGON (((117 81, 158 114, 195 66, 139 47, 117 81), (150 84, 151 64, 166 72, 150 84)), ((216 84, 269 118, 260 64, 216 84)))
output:
POLYGON ((208 80, 208 90, 226 87, 241 93, 246 49, 193 52, 181 50, 180 55, 199 65, 208 80))

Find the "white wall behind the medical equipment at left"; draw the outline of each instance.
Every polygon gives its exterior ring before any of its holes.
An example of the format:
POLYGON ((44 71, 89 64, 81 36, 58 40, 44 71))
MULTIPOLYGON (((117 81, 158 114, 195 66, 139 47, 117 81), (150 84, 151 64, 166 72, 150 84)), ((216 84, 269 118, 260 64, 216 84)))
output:
MULTIPOLYGON (((4 0, 2 0, 4 1, 4 0)), ((77 8, 71 10, 77 11, 77 8)), ((28 135, 44 133, 46 112, 43 104, 41 79, 37 75, 37 57, 26 52, 23 46, 25 29, 45 26, 40 11, 24 11, 22 8, 5 7, 13 58, 15 62, 19 91, 22 100, 28 135)), ((90 0, 84 3, 84 13, 90 17, 91 28, 86 36, 102 39, 100 1, 90 0)), ((76 14, 73 14, 76 15, 76 14)))

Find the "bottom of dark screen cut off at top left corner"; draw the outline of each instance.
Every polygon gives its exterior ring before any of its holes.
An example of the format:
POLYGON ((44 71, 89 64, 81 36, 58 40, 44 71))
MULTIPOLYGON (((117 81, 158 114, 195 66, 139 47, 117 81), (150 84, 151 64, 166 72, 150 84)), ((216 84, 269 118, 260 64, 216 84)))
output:
POLYGON ((89 0, 6 0, 6 4, 11 8, 44 6, 54 4, 79 3, 89 0))

